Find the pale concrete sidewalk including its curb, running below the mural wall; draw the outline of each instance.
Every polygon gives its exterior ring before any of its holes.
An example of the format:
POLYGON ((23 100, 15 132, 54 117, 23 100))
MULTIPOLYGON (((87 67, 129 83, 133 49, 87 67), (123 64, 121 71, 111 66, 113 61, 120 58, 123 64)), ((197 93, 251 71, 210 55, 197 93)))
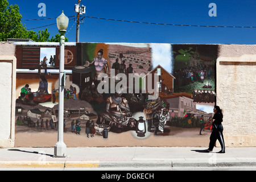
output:
POLYGON ((62 168, 84 170, 205 170, 242 168, 256 170, 256 147, 76 147, 67 157, 53 157, 52 148, 0 148, 0 170, 8 168, 62 168))

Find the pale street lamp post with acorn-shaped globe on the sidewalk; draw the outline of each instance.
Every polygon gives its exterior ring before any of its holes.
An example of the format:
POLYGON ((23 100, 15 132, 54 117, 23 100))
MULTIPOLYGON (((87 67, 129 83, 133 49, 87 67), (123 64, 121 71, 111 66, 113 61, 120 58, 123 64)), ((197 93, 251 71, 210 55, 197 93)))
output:
POLYGON ((55 157, 65 157, 67 146, 63 142, 63 126, 64 126, 64 46, 65 32, 67 32, 69 19, 62 14, 57 18, 57 27, 60 32, 60 65, 59 65, 59 114, 58 114, 58 140, 54 146, 55 157))

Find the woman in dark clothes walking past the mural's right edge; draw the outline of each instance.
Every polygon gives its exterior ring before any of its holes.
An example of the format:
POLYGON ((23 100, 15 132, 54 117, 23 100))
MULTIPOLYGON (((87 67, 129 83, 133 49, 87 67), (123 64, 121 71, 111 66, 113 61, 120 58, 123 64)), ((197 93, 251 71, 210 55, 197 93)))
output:
POLYGON ((223 138, 223 126, 222 126, 222 121, 223 121, 223 114, 222 110, 220 109, 219 106, 214 106, 214 115, 213 115, 213 123, 212 123, 212 134, 210 135, 210 143, 209 143, 209 148, 205 150, 206 152, 210 152, 213 150, 214 144, 216 140, 218 139, 218 142, 221 144, 221 151, 217 153, 225 153, 225 143, 224 143, 224 138, 223 138))

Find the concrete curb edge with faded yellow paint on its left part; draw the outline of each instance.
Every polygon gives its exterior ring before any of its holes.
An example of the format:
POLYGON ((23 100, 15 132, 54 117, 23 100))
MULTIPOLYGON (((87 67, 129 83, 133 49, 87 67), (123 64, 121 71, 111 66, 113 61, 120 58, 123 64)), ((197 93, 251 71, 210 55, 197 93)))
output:
POLYGON ((1 161, 1 168, 211 168, 211 167, 256 167, 256 162, 230 161, 230 162, 192 162, 192 161, 155 161, 155 160, 131 160, 131 161, 1 161))

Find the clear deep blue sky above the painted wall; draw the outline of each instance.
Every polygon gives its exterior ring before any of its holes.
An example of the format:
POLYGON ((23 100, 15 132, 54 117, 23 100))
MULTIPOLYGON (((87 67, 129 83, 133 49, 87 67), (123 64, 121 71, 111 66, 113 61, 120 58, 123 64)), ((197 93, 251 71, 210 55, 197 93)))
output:
MULTIPOLYGON (((20 7, 22 20, 55 18, 64 11, 75 16, 77 0, 63 1, 14 1, 20 7), (46 4, 46 16, 39 17, 39 3, 46 4)), ((256 27, 255 0, 194 0, 194 1, 85 1, 86 15, 97 18, 131 20, 138 22, 191 24, 208 26, 254 26, 256 27), (210 17, 208 7, 216 3, 217 16, 210 17)), ((256 28, 181 27, 155 24, 127 23, 84 18, 80 25, 80 42, 126 42, 126 43, 195 43, 195 44, 255 44, 256 28)), ((27 29, 56 23, 56 19, 24 21, 27 29)), ((75 20, 70 20, 67 37, 76 41, 75 20), (74 26, 73 26, 74 25, 74 26), (73 27, 72 27, 73 26, 73 27), (72 27, 72 28, 71 28, 72 27)), ((34 29, 44 30, 46 27, 34 29)), ((57 34, 57 26, 47 26, 50 36, 57 34)))

